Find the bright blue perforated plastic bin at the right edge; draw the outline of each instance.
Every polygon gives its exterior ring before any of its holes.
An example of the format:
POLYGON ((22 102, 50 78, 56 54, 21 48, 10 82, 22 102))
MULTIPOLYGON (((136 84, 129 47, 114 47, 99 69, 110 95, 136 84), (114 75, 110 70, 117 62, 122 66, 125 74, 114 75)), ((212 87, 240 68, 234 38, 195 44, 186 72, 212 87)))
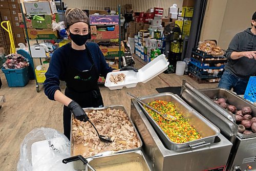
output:
POLYGON ((250 77, 244 93, 244 98, 251 102, 256 102, 256 76, 250 77))

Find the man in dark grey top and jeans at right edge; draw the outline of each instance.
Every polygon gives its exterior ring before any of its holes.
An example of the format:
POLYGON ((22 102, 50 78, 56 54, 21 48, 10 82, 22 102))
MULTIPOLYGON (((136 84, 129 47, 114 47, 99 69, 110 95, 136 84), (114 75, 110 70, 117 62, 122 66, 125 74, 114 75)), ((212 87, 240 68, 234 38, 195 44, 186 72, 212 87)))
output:
POLYGON ((256 12, 251 18, 251 28, 236 34, 227 49, 228 62, 219 88, 244 94, 250 76, 256 73, 256 12))

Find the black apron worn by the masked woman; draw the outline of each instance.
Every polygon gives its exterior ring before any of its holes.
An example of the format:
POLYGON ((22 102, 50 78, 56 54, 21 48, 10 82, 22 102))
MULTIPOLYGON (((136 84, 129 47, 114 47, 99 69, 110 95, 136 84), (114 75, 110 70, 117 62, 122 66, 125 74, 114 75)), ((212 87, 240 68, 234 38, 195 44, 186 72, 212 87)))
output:
MULTIPOLYGON (((87 45, 86 50, 90 62, 92 63, 91 69, 88 71, 79 71, 78 69, 69 65, 66 75, 67 88, 65 90, 65 95, 71 98, 72 100, 76 101, 82 108, 99 108, 103 106, 103 100, 97 83, 99 78, 99 72, 97 70, 97 67, 95 66, 92 54, 87 45)), ((66 135, 68 139, 70 139, 70 123, 70 109, 67 106, 64 106, 63 128, 64 135, 66 135)))

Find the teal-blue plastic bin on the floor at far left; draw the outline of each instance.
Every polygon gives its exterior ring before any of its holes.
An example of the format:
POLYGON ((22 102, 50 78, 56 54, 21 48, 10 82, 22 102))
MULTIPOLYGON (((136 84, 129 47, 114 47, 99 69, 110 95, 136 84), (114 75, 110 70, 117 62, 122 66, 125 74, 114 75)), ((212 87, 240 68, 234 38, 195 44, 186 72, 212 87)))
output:
POLYGON ((28 67, 23 69, 2 68, 9 87, 24 87, 29 82, 28 67))

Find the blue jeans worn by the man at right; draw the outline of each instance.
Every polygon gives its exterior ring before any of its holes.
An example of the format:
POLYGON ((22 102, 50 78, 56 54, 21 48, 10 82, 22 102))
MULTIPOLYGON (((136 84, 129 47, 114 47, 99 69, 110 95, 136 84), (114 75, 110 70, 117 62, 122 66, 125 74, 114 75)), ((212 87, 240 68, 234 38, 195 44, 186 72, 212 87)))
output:
POLYGON ((247 79, 238 78, 237 76, 231 74, 228 71, 224 71, 218 87, 225 88, 227 90, 231 90, 233 88, 233 92, 241 95, 244 94, 248 81, 249 80, 247 79))

